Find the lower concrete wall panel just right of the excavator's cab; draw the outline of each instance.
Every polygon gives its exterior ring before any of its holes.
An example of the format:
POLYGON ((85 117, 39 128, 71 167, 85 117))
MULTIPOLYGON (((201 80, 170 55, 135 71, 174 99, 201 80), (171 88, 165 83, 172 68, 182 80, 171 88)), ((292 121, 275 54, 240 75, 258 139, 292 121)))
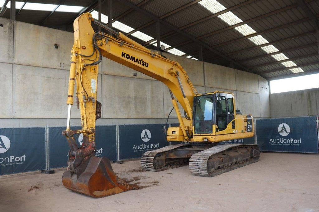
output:
POLYGON ((243 115, 252 114, 253 117, 260 116, 259 94, 237 91, 237 110, 243 115))

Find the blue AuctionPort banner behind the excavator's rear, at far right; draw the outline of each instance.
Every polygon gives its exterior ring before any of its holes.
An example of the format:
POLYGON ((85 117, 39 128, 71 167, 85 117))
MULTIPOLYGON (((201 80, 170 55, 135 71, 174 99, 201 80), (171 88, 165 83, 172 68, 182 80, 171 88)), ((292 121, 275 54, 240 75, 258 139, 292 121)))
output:
POLYGON ((257 144, 262 151, 318 153, 316 117, 256 120, 257 144))

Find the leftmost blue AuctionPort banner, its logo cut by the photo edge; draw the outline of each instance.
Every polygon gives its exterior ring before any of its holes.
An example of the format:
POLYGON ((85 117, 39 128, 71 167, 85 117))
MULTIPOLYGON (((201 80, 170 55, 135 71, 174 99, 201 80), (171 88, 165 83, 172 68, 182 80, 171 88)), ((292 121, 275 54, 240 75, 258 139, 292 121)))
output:
POLYGON ((45 128, 0 129, 0 175, 45 169, 45 128))

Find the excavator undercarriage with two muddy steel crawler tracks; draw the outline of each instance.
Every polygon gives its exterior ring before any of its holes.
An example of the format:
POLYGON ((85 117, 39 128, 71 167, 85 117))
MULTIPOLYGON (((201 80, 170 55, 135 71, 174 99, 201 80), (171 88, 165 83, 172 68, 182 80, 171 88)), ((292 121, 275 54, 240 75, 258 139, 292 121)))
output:
POLYGON ((257 162, 259 158, 258 145, 192 143, 145 152, 141 166, 148 171, 162 171, 189 164, 192 174, 213 177, 257 162))

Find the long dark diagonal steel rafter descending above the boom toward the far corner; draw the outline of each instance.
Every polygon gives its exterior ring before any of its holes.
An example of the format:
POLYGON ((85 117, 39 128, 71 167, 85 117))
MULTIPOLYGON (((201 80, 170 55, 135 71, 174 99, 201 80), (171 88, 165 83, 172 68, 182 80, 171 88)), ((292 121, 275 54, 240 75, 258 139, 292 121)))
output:
POLYGON ((226 57, 225 55, 223 55, 223 54, 220 53, 219 51, 217 51, 217 50, 211 48, 210 46, 208 46, 206 43, 197 40, 196 38, 194 38, 193 36, 189 35, 188 33, 183 32, 182 30, 178 29, 177 27, 175 27, 175 26, 173 26, 173 25, 171 25, 171 24, 169 24, 169 23, 167 23, 167 22, 165 22, 165 21, 159 19, 158 17, 156 17, 156 16, 153 15, 152 13, 147 12, 147 11, 145 11, 145 10, 143 10, 143 9, 141 9, 141 8, 139 8, 139 7, 137 7, 135 4, 132 4, 130 1, 128 1, 128 0, 120 0, 120 1, 123 2, 124 4, 129 5, 131 8, 133 8, 133 9, 136 10, 136 11, 139 11, 139 12, 141 12, 141 13, 144 13, 146 16, 148 16, 148 17, 154 19, 155 21, 159 21, 162 25, 164 25, 164 26, 166 26, 166 27, 168 27, 168 28, 171 28, 172 30, 174 30, 174 31, 176 31, 176 32, 178 32, 178 33, 180 33, 181 35, 183 35, 183 36, 185 36, 185 37, 187 37, 187 38, 193 40, 195 43, 201 44, 201 45, 203 46, 203 48, 206 48, 206 49, 210 50, 211 52, 213 52, 213 53, 215 53, 215 54, 218 54, 220 57, 224 58, 225 60, 228 60, 229 62, 233 62, 234 65, 236 65, 236 66, 238 66, 238 67, 241 67, 243 70, 246 70, 246 71, 249 71, 249 72, 253 72, 253 73, 254 73, 253 70, 251 70, 251 69, 249 69, 249 68, 243 66, 242 64, 237 63, 236 61, 230 59, 229 57, 226 57))

